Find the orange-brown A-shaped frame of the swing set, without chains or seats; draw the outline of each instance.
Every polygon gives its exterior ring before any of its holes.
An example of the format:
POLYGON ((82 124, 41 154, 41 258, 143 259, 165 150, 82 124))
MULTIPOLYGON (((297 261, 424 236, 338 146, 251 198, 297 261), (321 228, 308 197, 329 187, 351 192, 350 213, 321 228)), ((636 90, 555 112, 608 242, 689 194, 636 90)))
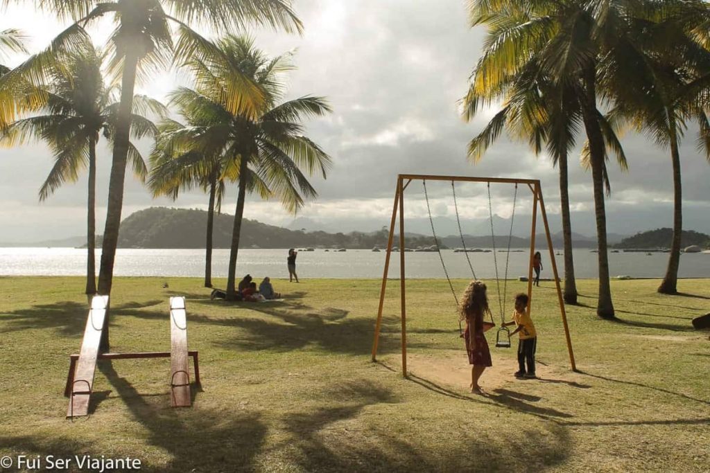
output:
POLYGON ((572 339, 569 338, 569 327, 567 325, 567 313, 564 311, 564 301, 562 299, 562 287, 559 284, 557 274, 557 263, 555 262, 555 250, 552 247, 552 235, 550 226, 547 223, 547 213, 545 213, 545 201, 542 199, 542 188, 539 179, 513 179, 504 177, 468 177, 468 176, 437 176, 428 174, 398 174, 397 187, 395 190, 394 205, 392 208, 392 220, 390 223, 390 234, 387 240, 387 253, 385 257, 385 269, 382 275, 382 287, 380 290, 380 304, 377 311, 377 322, 375 324, 375 336, 372 344, 372 361, 377 361, 377 347, 380 339, 380 329, 382 326, 382 309, 385 303, 385 292, 387 289, 387 276, 390 267, 390 257, 392 254, 392 244, 395 236, 395 223, 399 216, 399 252, 400 252, 400 320, 401 320, 401 347, 402 347, 402 375, 408 377, 407 372, 407 292, 405 278, 405 243, 404 243, 404 191, 408 185, 415 180, 422 181, 449 181, 449 182, 482 182, 482 183, 502 183, 502 184, 523 184, 532 192, 532 226, 530 228, 530 264, 528 265, 528 315, 532 304, 532 258, 535 255, 535 230, 537 226, 537 205, 540 204, 542 222, 545 224, 545 236, 547 237, 547 248, 550 250, 550 262, 552 273, 557 288, 557 299, 559 302, 559 313, 562 316, 562 326, 564 336, 567 340, 567 351, 569 352, 569 364, 572 371, 577 371, 574 362, 574 352, 572 351, 572 339))

